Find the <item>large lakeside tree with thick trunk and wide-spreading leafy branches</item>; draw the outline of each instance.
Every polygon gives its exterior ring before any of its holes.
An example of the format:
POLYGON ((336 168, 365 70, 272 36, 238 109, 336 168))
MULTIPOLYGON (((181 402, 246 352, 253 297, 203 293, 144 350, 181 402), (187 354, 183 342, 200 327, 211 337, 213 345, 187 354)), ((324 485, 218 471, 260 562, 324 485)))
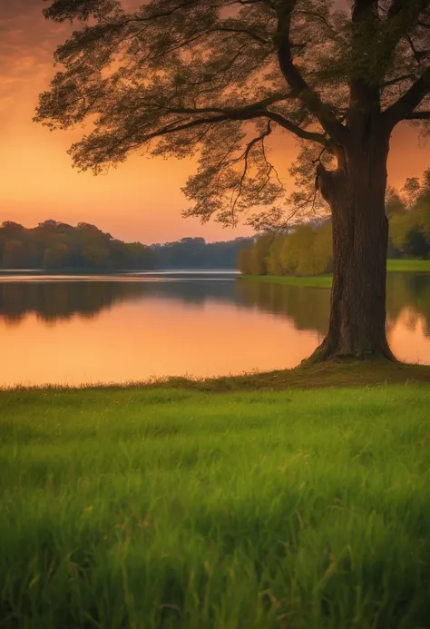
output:
POLYGON ((78 168, 98 173, 142 148, 196 155, 185 213, 203 221, 253 209, 261 228, 322 198, 334 281, 315 358, 394 358, 386 160, 396 124, 428 129, 430 0, 151 0, 131 13, 119 0, 51 0, 44 14, 80 22, 36 115, 51 128, 92 125, 70 150, 78 168), (268 158, 273 132, 302 145, 287 196, 268 158))

